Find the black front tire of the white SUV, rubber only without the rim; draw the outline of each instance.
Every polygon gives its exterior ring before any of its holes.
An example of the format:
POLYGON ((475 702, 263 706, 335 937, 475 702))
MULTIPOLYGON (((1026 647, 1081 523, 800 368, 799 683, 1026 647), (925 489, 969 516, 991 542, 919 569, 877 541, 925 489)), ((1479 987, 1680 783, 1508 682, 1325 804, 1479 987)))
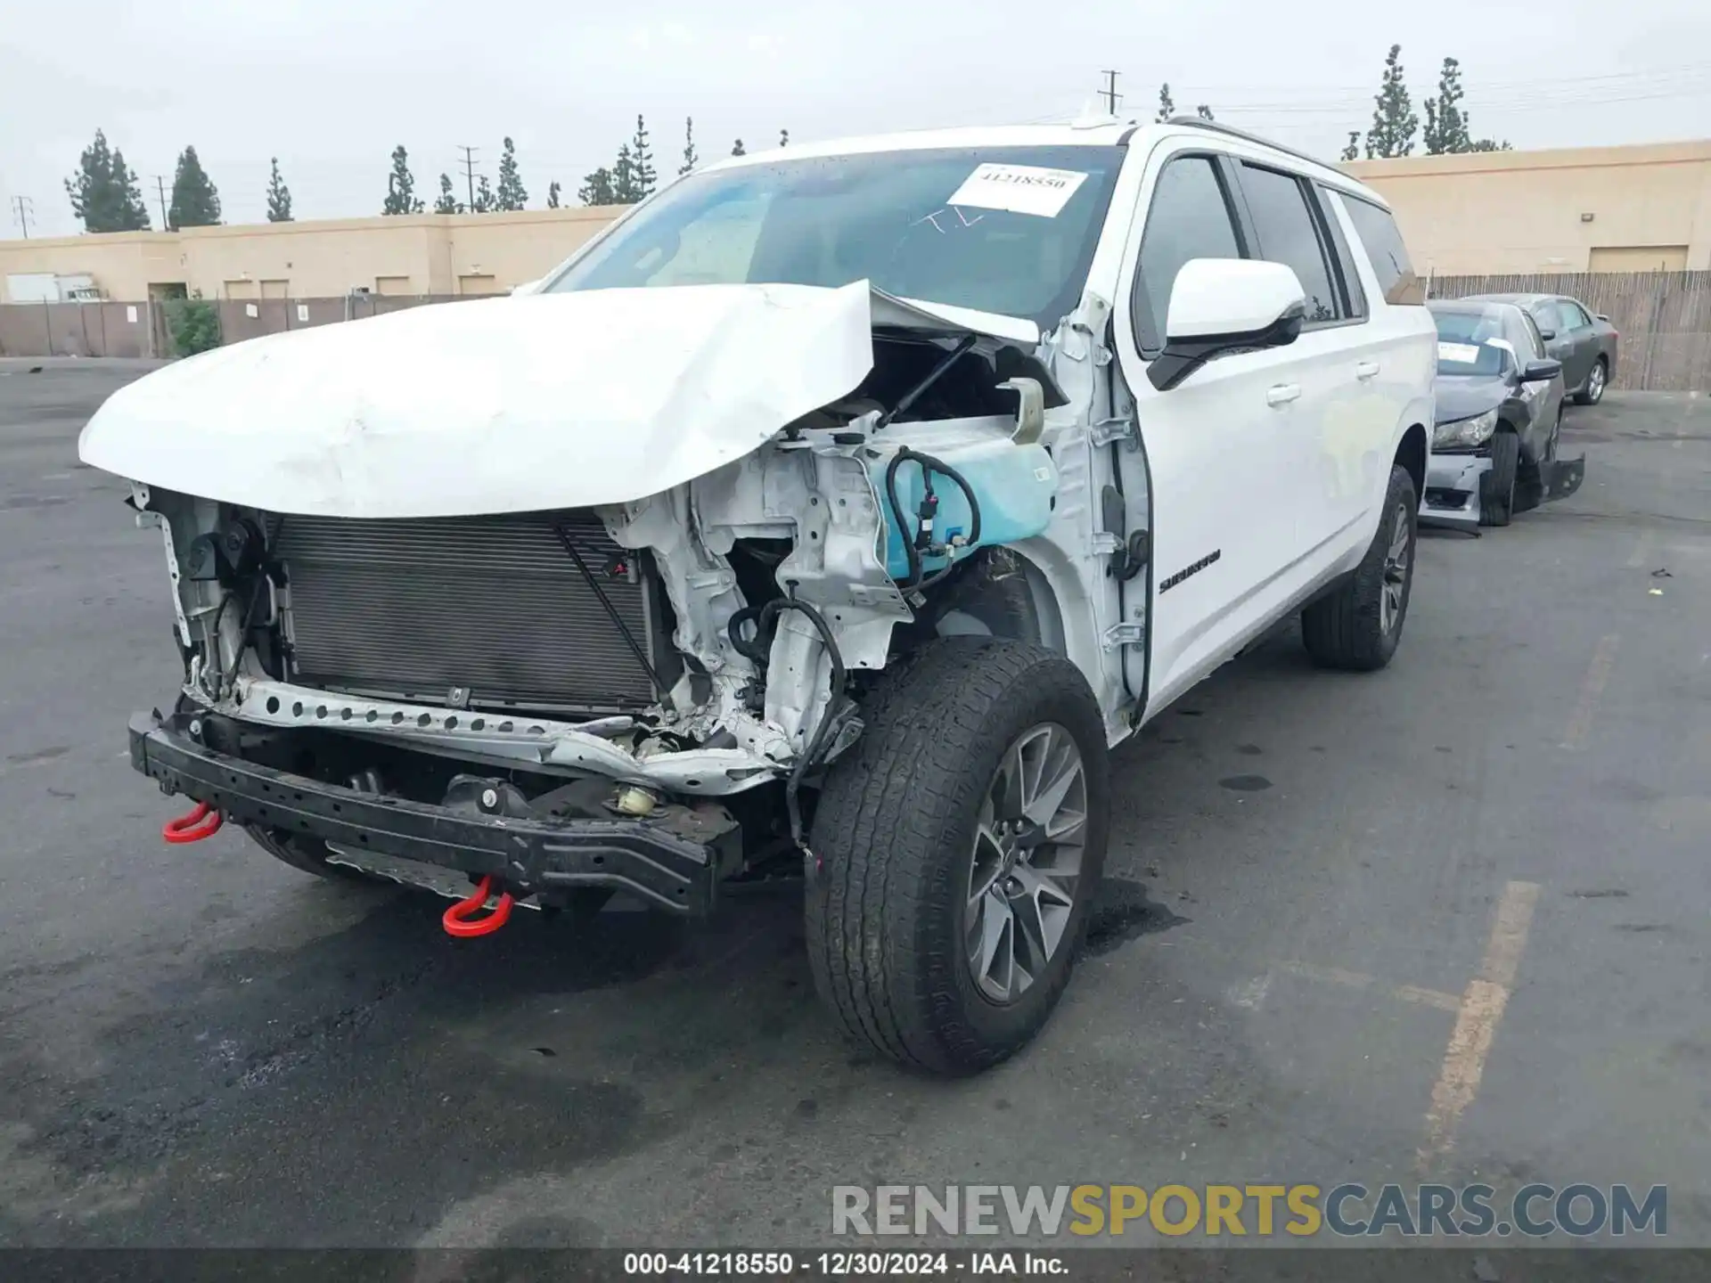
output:
POLYGON ((910 1067, 977 1073, 1025 1045, 1069 984, 1105 859, 1104 718, 1061 655, 950 636, 888 669, 862 720, 866 732, 833 765, 814 814, 806 888, 814 985, 854 1040, 910 1067), (1001 1004, 982 992, 965 948, 977 816, 999 761, 1042 725, 1066 732, 1080 753, 1083 848, 1056 953, 1001 1004))

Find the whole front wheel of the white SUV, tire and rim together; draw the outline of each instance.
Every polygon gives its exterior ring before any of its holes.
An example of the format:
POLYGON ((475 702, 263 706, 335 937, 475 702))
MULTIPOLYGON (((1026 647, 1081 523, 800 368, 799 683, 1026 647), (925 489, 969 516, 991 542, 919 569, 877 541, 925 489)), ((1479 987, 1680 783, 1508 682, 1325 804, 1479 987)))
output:
POLYGON ((929 642, 881 676, 814 813, 808 951, 844 1030, 943 1074, 1023 1047, 1069 984, 1105 860, 1105 725, 1069 660, 929 642))

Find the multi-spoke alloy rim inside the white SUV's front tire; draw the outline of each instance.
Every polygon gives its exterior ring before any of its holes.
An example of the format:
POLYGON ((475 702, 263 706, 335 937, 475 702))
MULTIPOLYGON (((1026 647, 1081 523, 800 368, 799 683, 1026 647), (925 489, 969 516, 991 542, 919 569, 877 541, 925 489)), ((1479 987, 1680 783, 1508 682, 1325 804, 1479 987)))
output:
POLYGON ((1085 838, 1081 749, 1056 722, 1021 732, 980 799, 963 907, 968 970, 987 1001, 1020 999, 1066 948, 1085 838))

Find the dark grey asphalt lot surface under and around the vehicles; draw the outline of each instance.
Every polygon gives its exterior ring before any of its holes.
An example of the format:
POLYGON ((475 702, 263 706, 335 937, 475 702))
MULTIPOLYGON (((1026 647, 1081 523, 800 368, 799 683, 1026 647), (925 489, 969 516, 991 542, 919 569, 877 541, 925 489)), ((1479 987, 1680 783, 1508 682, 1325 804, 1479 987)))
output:
POLYGON ((1424 534, 1386 672, 1282 635, 1124 746, 1057 1016, 943 1083, 840 1042, 787 888, 453 941, 163 845, 159 535, 75 458, 133 375, 0 375, 0 1244, 804 1245, 844 1184, 1422 1174, 1667 1184, 1711 1244, 1711 400, 1571 409, 1584 488, 1424 534))

